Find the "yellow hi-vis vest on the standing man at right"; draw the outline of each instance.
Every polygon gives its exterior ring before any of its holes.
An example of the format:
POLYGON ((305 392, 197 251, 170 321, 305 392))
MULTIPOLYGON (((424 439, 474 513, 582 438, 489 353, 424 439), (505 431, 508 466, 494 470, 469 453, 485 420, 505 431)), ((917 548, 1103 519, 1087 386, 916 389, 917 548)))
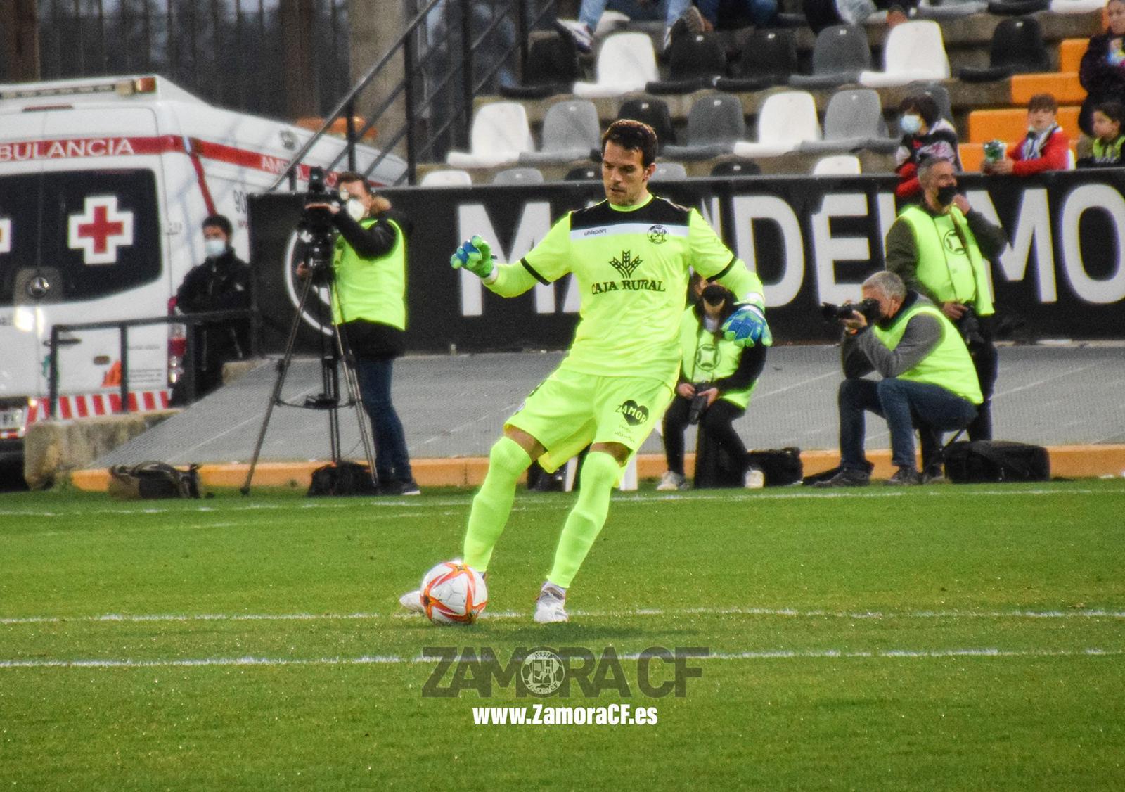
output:
POLYGON ((918 280, 935 302, 970 305, 978 316, 993 314, 988 267, 961 209, 951 206, 944 215, 934 216, 908 206, 899 217, 914 231, 918 280))

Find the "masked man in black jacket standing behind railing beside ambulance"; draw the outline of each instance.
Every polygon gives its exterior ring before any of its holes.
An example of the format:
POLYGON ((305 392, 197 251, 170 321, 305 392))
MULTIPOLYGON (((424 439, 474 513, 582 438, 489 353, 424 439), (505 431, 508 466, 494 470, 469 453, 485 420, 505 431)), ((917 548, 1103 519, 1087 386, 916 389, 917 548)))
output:
MULTIPOLYGON (((204 263, 191 268, 176 292, 176 307, 184 314, 238 310, 250 307, 250 264, 231 248, 231 220, 210 215, 202 223, 204 263)), ((196 396, 205 396, 223 384, 223 364, 250 353, 250 321, 209 322, 196 327, 191 359, 196 396)), ((183 404, 187 394, 173 389, 172 403, 183 404)))

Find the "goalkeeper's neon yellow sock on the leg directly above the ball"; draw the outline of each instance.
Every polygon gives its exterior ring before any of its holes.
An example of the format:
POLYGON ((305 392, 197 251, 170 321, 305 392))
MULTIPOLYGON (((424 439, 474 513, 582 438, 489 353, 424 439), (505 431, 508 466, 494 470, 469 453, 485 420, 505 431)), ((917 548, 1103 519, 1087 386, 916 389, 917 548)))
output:
POLYGON ((531 457, 511 438, 501 438, 488 452, 488 472, 472 498, 469 528, 465 532, 465 562, 477 572, 488 568, 493 547, 512 512, 516 482, 530 465, 531 457))

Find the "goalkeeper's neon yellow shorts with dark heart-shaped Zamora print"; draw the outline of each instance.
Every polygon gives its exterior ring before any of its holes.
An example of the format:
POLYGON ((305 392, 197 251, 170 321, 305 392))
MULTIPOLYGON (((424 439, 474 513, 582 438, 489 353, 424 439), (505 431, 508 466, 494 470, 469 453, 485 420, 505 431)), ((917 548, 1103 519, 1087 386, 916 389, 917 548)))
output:
POLYGON ((672 388, 656 378, 556 369, 505 425, 542 443, 539 464, 550 472, 591 443, 621 443, 636 453, 670 400, 672 388))

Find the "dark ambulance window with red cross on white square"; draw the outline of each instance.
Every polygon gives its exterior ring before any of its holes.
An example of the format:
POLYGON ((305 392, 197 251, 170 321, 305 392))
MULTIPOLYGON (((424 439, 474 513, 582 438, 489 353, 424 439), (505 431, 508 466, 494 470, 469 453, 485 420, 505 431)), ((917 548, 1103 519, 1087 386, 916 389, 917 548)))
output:
POLYGON ((0 305, 96 299, 160 272, 152 171, 0 176, 0 305), (38 276, 46 291, 29 288, 38 276))

